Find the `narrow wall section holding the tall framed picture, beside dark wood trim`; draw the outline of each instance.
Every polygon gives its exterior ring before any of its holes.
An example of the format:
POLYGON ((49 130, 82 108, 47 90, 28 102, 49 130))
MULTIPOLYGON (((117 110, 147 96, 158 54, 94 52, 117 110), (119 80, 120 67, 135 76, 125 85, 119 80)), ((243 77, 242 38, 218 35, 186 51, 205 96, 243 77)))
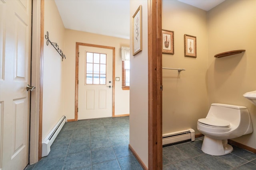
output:
POLYGON ((132 16, 142 5, 142 51, 130 53, 130 146, 148 167, 148 2, 130 1, 130 49, 132 16))

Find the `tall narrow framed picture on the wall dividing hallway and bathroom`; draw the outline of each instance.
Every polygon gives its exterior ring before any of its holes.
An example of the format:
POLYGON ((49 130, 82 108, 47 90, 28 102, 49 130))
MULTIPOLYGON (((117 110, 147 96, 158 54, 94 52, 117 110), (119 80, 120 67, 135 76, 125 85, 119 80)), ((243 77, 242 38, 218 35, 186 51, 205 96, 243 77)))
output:
POLYGON ((132 55, 142 51, 142 6, 132 16, 132 55))

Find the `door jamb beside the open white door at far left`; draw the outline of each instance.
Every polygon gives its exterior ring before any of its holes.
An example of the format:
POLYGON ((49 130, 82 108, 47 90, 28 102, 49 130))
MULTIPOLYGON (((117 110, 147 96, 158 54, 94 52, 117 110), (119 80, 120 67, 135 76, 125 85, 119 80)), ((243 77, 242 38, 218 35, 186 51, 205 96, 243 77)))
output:
POLYGON ((34 164, 42 158, 42 83, 44 54, 44 0, 32 3, 32 57, 30 107, 30 153, 29 163, 34 164))

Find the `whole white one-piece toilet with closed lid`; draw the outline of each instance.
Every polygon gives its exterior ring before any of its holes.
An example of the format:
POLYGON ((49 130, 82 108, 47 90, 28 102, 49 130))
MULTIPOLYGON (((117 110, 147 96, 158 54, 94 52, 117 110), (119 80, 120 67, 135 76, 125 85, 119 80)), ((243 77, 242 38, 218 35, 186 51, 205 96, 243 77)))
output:
POLYGON ((204 134, 202 151, 216 156, 232 152, 228 139, 253 131, 247 108, 229 104, 212 104, 206 118, 198 119, 197 129, 204 134))

